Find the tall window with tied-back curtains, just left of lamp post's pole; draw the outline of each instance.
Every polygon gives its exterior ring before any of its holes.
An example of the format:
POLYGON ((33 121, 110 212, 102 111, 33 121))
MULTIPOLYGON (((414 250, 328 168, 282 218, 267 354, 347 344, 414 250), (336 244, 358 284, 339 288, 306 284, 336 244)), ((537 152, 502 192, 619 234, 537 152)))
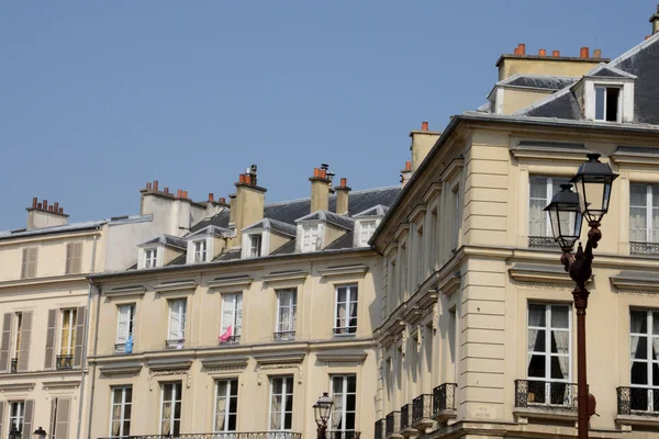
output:
POLYGON ((528 401, 572 405, 569 384, 571 325, 569 305, 529 304, 527 339, 528 401))

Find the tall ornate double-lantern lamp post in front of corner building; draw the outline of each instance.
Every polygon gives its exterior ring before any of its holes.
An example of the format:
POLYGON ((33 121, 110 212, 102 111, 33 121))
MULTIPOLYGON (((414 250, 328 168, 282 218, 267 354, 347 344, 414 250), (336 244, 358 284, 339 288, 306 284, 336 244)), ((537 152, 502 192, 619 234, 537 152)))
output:
POLYGON ((608 211, 611 187, 618 177, 612 171, 608 164, 602 164, 599 160, 599 154, 589 154, 587 157, 588 161, 579 167, 577 176, 570 180, 570 183, 574 184, 577 193, 570 190, 571 184, 562 184, 561 191, 545 207, 545 211, 549 212, 554 239, 563 251, 560 261, 577 284, 572 295, 577 309, 579 439, 588 438, 588 420, 595 409, 594 397, 589 397, 588 394, 585 369, 585 308, 590 294, 585 283, 593 273, 593 248, 597 248, 597 243, 602 239, 600 222, 608 211), (577 254, 572 255, 572 247, 581 234, 582 216, 585 216, 590 227, 585 250, 579 243, 577 254))

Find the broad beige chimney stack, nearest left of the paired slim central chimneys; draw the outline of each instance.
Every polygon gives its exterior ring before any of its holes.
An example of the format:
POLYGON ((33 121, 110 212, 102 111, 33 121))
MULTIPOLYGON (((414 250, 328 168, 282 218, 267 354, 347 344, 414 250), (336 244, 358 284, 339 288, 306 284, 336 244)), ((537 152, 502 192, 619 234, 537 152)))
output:
MULTIPOLYGON (((242 241, 243 228, 258 223, 264 218, 264 206, 266 204, 266 189, 256 184, 256 165, 252 165, 245 170, 245 173, 238 176, 236 185, 235 210, 232 205, 231 213, 234 213, 236 240, 234 245, 242 241)), ((230 195, 231 196, 231 195, 230 195)))

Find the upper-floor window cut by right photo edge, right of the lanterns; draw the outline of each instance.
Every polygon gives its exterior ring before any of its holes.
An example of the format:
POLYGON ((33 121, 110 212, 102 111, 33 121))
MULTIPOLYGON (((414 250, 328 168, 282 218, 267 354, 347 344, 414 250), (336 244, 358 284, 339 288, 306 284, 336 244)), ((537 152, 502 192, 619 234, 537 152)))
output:
POLYGON ((632 243, 659 243, 659 185, 630 185, 629 216, 632 243))

